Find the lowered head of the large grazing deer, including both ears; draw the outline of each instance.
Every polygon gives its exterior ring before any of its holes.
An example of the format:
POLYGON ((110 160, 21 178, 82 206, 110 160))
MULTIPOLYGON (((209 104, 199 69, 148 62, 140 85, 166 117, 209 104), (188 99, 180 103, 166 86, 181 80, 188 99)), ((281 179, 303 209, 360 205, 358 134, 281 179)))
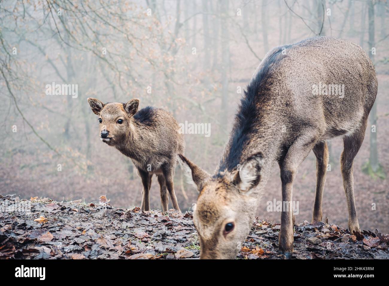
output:
POLYGON ((210 177, 179 155, 200 192, 193 213, 200 239, 201 259, 234 259, 254 219, 255 187, 260 180, 262 155, 248 158, 240 170, 210 177))

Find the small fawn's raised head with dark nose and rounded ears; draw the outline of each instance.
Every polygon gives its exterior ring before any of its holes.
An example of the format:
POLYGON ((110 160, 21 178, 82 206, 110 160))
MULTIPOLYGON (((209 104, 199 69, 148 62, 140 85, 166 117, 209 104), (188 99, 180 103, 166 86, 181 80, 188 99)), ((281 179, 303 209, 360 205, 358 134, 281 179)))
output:
POLYGON ((99 116, 100 139, 110 146, 123 142, 131 132, 132 116, 138 111, 139 100, 103 104, 96 98, 88 98, 88 102, 93 113, 99 116))

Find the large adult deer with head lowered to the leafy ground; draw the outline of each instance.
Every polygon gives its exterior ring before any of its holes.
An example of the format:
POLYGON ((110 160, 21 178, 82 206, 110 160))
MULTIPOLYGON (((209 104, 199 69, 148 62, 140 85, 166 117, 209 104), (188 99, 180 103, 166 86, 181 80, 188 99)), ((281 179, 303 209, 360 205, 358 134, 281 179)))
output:
MULTIPOLYGON (((341 170, 349 230, 360 233, 353 160, 376 95, 373 63, 360 46, 347 40, 317 37, 268 52, 247 86, 214 175, 179 155, 200 192, 193 222, 201 258, 235 258, 251 230, 273 163, 280 167, 282 200, 291 203, 297 168, 311 150, 317 159, 312 220, 321 221, 326 140, 337 136, 344 144, 341 170), (341 90, 344 84, 343 91, 326 91, 335 84, 341 90)), ((292 208, 282 212, 279 249, 286 258, 293 252, 293 219, 292 208)))

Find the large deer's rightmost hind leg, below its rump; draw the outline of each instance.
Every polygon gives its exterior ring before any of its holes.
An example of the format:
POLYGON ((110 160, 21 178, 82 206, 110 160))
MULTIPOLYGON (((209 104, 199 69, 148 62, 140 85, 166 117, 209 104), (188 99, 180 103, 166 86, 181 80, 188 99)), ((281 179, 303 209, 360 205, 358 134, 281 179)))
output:
POLYGON ((340 156, 340 165, 343 177, 343 188, 346 193, 347 207, 349 209, 349 230, 353 234, 359 234, 361 232, 359 228, 359 222, 357 218, 357 211, 355 208, 354 198, 354 176, 353 176, 353 164, 354 158, 362 145, 364 134, 366 130, 367 119, 364 120, 359 130, 354 132, 350 136, 343 138, 343 152, 340 156))

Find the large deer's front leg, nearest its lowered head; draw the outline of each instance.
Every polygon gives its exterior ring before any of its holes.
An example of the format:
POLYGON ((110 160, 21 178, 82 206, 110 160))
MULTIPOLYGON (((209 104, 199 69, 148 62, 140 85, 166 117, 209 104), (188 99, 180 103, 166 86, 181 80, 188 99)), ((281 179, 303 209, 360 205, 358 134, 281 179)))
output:
POLYGON ((288 205, 281 213, 281 228, 279 234, 280 252, 286 258, 291 258, 293 252, 293 180, 300 163, 308 156, 315 145, 315 137, 298 138, 288 149, 282 163, 280 173, 282 182, 282 205, 288 205))

